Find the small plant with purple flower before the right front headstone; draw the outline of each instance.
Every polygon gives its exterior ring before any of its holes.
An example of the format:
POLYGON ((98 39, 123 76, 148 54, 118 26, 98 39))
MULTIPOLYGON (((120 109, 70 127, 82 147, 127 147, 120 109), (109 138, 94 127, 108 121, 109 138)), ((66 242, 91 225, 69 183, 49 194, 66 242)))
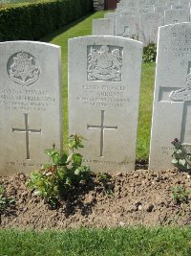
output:
POLYGON ((186 171, 191 169, 191 154, 186 151, 180 141, 176 138, 171 142, 175 150, 173 151, 172 157, 174 159, 171 163, 180 169, 180 171, 186 171))

